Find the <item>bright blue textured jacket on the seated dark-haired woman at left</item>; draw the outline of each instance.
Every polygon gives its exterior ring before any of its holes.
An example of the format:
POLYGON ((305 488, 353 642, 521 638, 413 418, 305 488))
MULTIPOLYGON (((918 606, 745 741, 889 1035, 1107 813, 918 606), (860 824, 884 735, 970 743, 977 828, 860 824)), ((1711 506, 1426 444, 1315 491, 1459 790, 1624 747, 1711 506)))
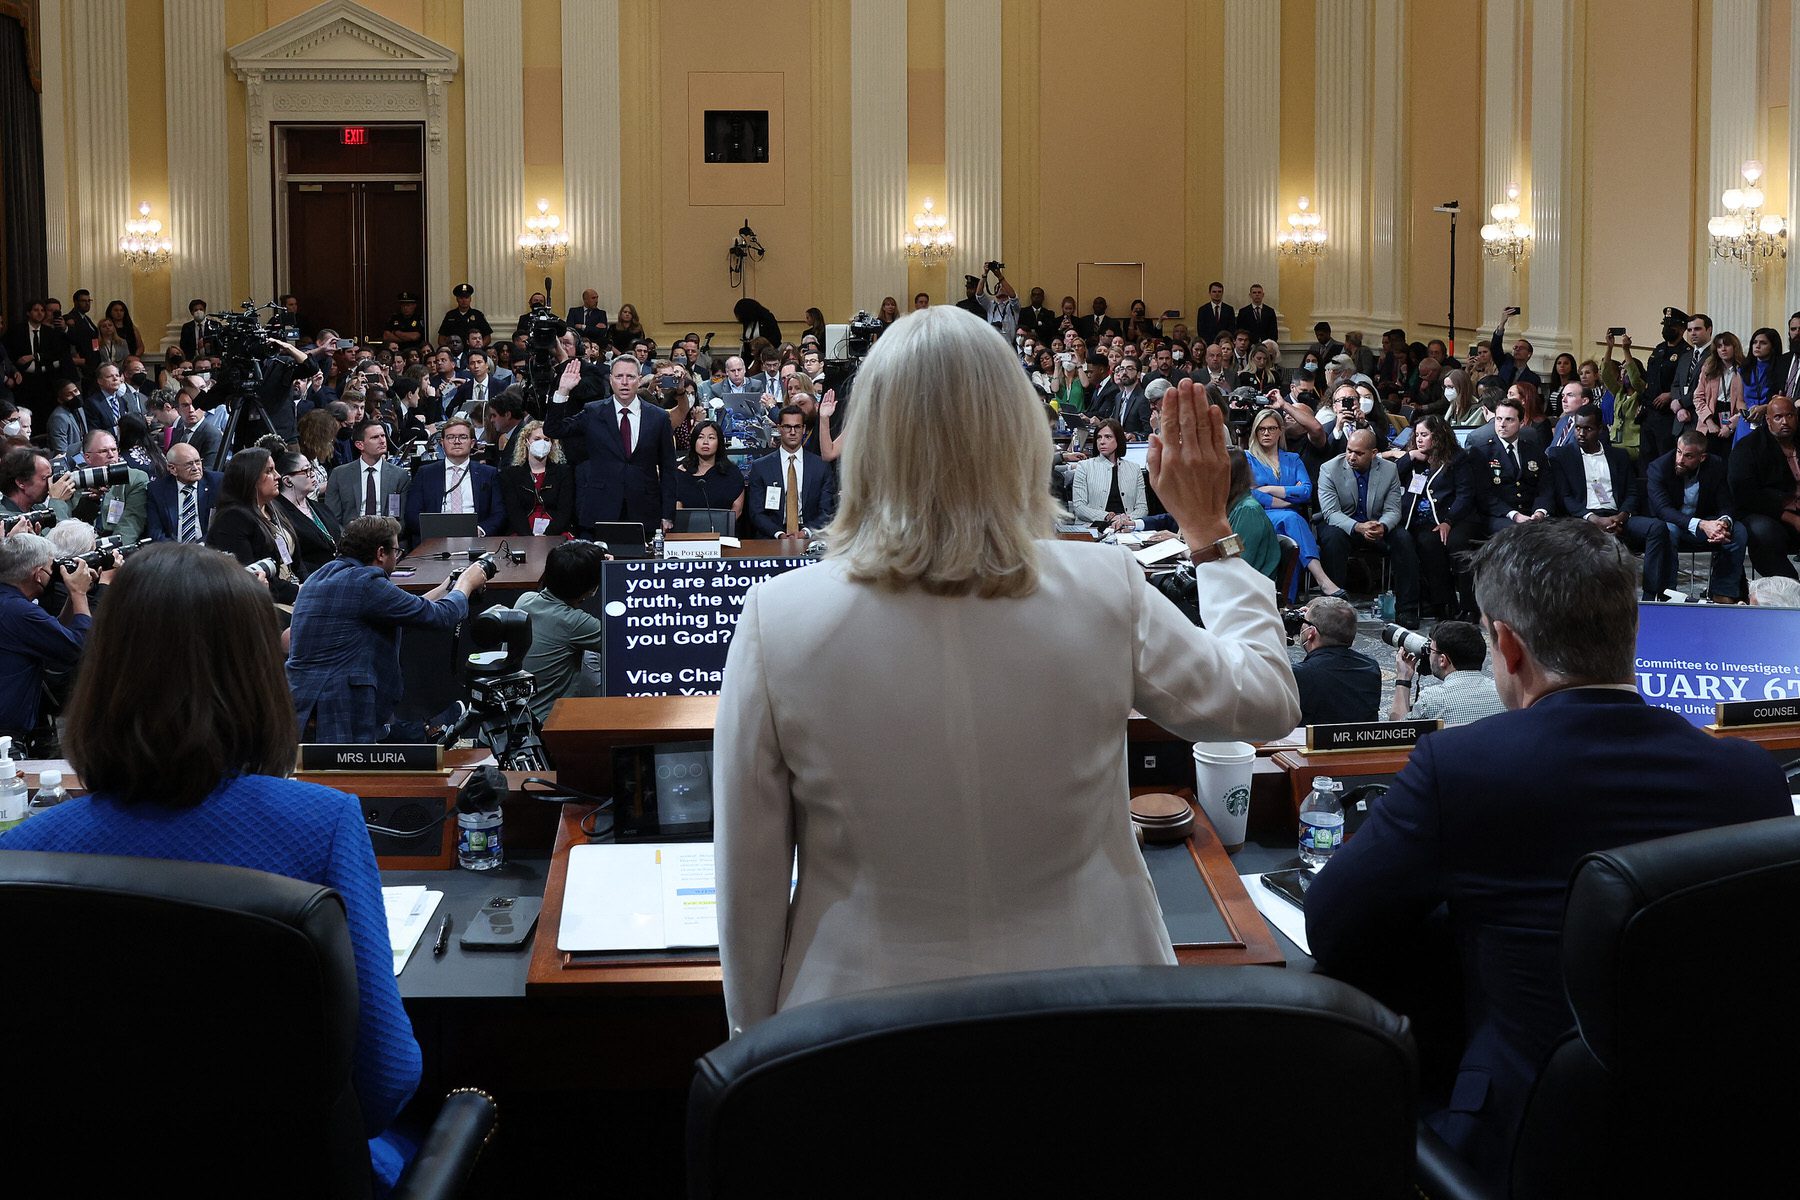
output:
POLYGON ((193 808, 88 795, 38 813, 0 837, 0 847, 211 862, 337 891, 356 959, 351 1079, 371 1171, 383 1189, 394 1186, 407 1155, 383 1130, 418 1088, 421 1060, 412 1020, 400 1004, 382 874, 355 795, 270 775, 225 779, 193 808))

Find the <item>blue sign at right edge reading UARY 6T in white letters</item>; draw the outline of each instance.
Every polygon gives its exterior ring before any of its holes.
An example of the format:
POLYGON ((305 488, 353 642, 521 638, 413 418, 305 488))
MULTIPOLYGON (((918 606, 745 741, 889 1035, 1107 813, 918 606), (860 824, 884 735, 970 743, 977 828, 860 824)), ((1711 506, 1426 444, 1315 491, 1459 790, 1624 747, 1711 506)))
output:
POLYGON ((1800 696, 1800 610, 1640 604, 1636 684, 1694 725, 1721 703, 1800 696))

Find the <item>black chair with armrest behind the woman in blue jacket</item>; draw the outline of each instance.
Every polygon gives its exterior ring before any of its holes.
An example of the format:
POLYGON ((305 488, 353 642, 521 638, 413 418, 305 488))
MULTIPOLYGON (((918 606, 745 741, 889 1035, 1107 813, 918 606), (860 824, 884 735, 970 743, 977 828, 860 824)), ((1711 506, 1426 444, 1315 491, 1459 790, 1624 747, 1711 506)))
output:
MULTIPOLYGON (((0 849, 0 912, 5 1189, 369 1195, 356 964, 335 891, 0 849)), ((491 1099, 454 1092, 394 1195, 457 1195, 491 1128, 491 1099)))

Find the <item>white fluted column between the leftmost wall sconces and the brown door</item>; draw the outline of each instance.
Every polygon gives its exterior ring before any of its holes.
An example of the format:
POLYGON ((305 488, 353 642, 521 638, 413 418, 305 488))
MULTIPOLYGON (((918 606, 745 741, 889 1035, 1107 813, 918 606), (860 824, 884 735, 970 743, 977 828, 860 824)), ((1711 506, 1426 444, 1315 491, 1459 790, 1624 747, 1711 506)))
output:
POLYGON ((169 128, 169 327, 180 336, 187 302, 229 309, 230 293, 230 140, 225 131, 225 72, 194 63, 225 61, 225 0, 164 0, 162 59, 167 74, 169 128))

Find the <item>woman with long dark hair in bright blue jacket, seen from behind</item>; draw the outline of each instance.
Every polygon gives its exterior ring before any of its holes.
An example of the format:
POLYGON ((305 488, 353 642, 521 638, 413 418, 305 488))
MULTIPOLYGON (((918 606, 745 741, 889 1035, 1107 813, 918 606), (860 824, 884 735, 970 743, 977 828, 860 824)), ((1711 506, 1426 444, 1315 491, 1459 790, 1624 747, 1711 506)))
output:
POLYGON ((405 1142, 378 1130, 419 1085, 419 1045, 394 984, 362 806, 347 792, 288 779, 293 698, 268 596, 205 547, 146 547, 106 590, 86 655, 95 666, 126 664, 146 646, 169 671, 77 676, 63 752, 88 795, 38 813, 0 837, 0 849, 211 862, 337 891, 356 963, 356 1115, 376 1132, 371 1175, 392 1187, 405 1142))

